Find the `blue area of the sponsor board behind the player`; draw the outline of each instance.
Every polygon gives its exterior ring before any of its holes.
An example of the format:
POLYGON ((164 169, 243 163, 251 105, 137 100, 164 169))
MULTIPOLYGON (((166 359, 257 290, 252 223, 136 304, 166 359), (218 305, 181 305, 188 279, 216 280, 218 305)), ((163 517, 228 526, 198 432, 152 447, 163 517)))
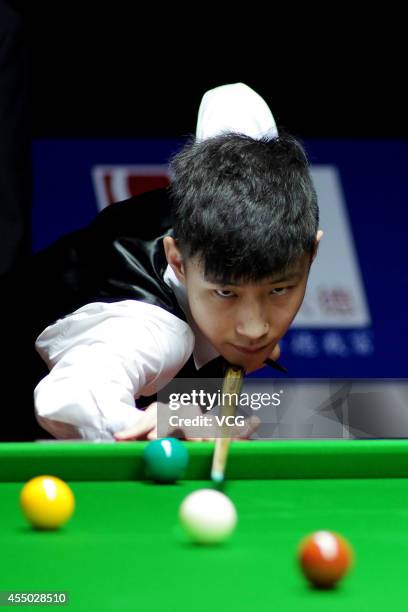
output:
MULTIPOLYGON (((98 207, 137 192, 140 181, 162 184, 163 168, 181 144, 35 141, 34 250, 89 223, 98 207)), ((308 140, 305 146, 312 165, 338 170, 371 323, 296 327, 282 341, 281 361, 295 378, 407 377, 408 141, 308 140)), ((264 375, 269 368, 257 374, 264 375)))

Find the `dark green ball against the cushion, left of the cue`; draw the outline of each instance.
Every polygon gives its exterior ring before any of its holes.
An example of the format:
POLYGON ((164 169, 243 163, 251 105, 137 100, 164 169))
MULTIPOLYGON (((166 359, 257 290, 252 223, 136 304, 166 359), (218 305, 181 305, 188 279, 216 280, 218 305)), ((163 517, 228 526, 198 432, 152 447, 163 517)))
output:
POLYGON ((153 440, 143 451, 145 474, 155 482, 176 482, 188 464, 188 451, 177 438, 153 440))

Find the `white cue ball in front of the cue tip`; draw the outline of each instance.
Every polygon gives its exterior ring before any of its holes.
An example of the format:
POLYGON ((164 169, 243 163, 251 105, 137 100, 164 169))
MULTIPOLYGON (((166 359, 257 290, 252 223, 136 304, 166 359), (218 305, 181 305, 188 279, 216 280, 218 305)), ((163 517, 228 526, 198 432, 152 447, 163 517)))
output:
POLYGON ((237 524, 232 501, 213 489, 200 489, 187 495, 179 517, 189 537, 199 544, 224 542, 237 524))

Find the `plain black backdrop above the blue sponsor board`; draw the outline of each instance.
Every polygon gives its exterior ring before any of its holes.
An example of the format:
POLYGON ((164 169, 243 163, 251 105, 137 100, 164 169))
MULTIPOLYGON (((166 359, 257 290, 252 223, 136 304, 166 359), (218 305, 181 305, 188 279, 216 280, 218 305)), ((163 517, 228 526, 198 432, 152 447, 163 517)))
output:
POLYGON ((387 7, 11 3, 34 137, 179 137, 207 89, 236 81, 299 137, 408 136, 405 19, 387 7))

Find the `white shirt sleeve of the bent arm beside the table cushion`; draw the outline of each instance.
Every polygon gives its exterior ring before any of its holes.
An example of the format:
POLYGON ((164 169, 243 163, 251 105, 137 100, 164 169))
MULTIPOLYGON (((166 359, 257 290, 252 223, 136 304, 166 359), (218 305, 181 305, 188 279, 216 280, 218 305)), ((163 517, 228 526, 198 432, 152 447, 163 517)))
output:
POLYGON ((57 438, 112 439, 140 419, 135 398, 163 388, 193 348, 189 325, 158 306, 88 304, 37 338, 51 370, 34 392, 37 420, 57 438))

